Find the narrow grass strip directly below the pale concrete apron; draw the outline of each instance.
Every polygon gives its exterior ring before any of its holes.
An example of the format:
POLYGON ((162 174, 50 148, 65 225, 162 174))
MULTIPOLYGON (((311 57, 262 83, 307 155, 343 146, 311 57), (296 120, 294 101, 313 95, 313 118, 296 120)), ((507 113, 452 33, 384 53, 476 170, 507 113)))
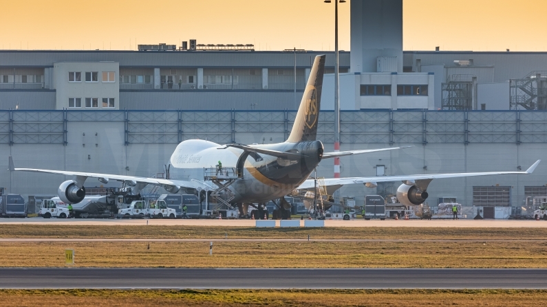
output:
POLYGON ((534 228, 326 227, 275 228, 195 226, 0 225, 0 238, 310 238, 312 239, 536 239, 534 228))

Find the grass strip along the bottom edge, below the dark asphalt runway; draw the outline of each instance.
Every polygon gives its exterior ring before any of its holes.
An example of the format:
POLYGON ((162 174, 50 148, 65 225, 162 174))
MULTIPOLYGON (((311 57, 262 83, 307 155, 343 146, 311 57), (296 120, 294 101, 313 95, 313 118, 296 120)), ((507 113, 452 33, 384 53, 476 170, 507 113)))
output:
POLYGON ((533 290, 0 290, 2 306, 544 306, 533 290))

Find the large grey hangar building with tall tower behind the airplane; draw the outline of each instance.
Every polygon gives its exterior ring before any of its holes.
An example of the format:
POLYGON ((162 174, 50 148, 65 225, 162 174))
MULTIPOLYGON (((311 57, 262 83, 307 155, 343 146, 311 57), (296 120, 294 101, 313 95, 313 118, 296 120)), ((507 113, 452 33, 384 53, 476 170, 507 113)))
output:
MULTIPOLYGON (((547 52, 405 52, 402 0, 350 4, 351 52, 339 56, 341 150, 414 147, 343 157, 342 177, 525 170, 542 159, 547 52)), ((187 49, 1 50, 0 187, 54 195, 65 180, 10 173, 10 155, 17 167, 149 177, 164 172, 184 139, 283 141, 317 54, 327 54, 319 139, 332 151, 334 52, 193 40, 187 49)), ((321 163, 319 176, 332 177, 332 163, 321 163)), ((546 174, 542 163, 528 176, 439 179, 428 203, 448 196, 521 207, 527 196, 547 195, 546 174)), ((347 185, 339 195, 362 203, 398 185, 347 185)))

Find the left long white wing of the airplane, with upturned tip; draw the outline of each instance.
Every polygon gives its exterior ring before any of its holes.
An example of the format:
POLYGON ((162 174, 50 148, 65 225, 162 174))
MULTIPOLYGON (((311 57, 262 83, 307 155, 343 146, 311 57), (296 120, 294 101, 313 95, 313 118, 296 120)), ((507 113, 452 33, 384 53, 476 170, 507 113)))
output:
POLYGON ((109 179, 116 181, 126 181, 132 183, 146 183, 151 185, 160 185, 162 187, 169 186, 179 186, 179 187, 188 187, 193 189, 201 190, 215 190, 215 187, 211 187, 202 181, 191 180, 171 180, 171 179, 161 179, 161 178, 149 178, 149 177, 136 177, 136 176, 125 176, 125 175, 116 175, 116 174, 98 174, 94 172, 72 172, 68 170, 41 170, 37 168, 15 168, 13 159, 10 156, 9 161, 9 170, 15 172, 41 172, 46 174, 61 174, 65 176, 73 176, 74 181, 85 181, 85 179, 91 178, 101 178, 109 179))

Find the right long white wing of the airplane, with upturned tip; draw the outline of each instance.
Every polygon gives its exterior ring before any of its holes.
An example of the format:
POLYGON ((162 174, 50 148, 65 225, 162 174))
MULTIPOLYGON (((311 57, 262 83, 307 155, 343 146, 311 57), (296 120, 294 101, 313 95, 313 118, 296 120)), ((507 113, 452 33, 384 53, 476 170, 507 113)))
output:
MULTIPOLYGON (((347 178, 330 178, 324 179, 325 185, 347 185, 354 183, 378 183, 386 181, 403 181, 403 183, 415 183, 416 181, 429 181, 433 179, 442 178, 456 178, 456 177, 475 177, 475 176, 489 176, 489 175, 502 175, 502 174, 532 174, 541 160, 535 161, 528 170, 524 172, 460 172, 452 174, 417 174, 417 175, 403 175, 403 176, 378 176, 378 177, 347 177, 347 178)), ((314 179, 308 179, 304 181, 298 188, 310 189, 314 187, 314 179)))

